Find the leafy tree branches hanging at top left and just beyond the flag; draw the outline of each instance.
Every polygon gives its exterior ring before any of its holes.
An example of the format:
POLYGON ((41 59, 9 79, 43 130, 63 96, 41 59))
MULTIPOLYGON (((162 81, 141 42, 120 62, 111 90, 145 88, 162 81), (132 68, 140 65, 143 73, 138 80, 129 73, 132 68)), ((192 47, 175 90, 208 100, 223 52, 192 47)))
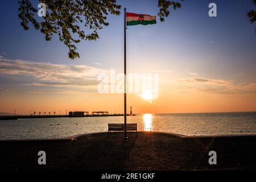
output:
MULTIPOLYGON (((183 1, 183 0, 180 0, 183 1)), ((40 30, 49 41, 53 34, 57 34, 61 42, 68 47, 71 59, 79 57, 74 44, 81 40, 97 40, 98 30, 108 26, 108 14, 119 15, 121 6, 116 0, 41 0, 46 4, 46 16, 38 22, 38 9, 32 6, 31 0, 19 0, 19 18, 21 26, 28 30, 28 23, 32 23, 36 30, 40 30), (85 32, 85 30, 88 30, 85 32)), ((180 2, 158 0, 160 20, 170 15, 169 7, 174 10, 181 7, 180 2)))

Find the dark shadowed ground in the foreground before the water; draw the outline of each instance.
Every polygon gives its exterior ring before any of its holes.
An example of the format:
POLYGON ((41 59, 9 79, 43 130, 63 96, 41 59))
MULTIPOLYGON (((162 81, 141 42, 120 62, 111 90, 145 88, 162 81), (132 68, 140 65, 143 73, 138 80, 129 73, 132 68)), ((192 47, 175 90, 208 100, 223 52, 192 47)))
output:
POLYGON ((55 140, 2 140, 2 170, 205 170, 256 169, 256 137, 184 137, 166 133, 86 134, 55 140), (47 164, 38 164, 46 151, 47 164), (209 165, 208 152, 217 152, 209 165))

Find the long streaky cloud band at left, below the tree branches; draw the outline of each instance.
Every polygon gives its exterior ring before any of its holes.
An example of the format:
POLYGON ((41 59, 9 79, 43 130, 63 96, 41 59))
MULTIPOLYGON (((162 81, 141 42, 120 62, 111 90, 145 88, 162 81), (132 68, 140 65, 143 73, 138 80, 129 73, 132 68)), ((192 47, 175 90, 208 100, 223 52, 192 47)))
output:
POLYGON ((36 79, 36 82, 26 85, 81 87, 97 85, 97 75, 106 72, 104 69, 89 67, 88 65, 8 60, 0 56, 0 74, 30 76, 36 79))

